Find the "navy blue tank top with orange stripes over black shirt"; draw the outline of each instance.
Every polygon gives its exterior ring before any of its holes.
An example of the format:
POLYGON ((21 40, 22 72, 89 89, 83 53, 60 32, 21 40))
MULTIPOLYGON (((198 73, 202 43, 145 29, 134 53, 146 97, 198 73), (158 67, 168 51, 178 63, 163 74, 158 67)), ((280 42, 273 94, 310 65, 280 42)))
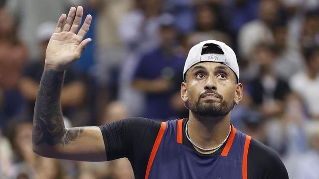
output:
POLYGON ((220 156, 200 155, 183 145, 183 120, 161 123, 145 179, 247 179, 250 136, 232 125, 220 156))

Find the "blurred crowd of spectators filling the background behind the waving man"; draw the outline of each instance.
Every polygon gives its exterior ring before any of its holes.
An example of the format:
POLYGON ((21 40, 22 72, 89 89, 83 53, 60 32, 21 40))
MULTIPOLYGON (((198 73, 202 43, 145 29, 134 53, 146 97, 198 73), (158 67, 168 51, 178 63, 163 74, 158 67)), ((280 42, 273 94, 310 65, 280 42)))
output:
POLYGON ((188 117, 180 97, 191 46, 231 46, 244 97, 235 127, 274 149, 291 179, 319 179, 319 0, 1 0, 0 179, 133 179, 130 162, 32 152, 33 108, 55 22, 91 14, 93 42, 66 71, 67 127, 188 117))

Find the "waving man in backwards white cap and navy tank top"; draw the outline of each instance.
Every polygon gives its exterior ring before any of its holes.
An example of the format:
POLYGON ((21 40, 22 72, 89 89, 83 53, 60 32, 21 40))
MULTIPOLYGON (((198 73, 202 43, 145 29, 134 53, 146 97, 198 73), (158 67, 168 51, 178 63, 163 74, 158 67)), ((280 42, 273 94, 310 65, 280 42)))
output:
POLYGON ((83 161, 128 157, 137 179, 288 179, 271 150, 230 125, 242 85, 235 53, 218 41, 195 45, 188 54, 181 97, 189 119, 131 118, 100 128, 66 129, 59 104, 64 70, 91 41, 83 40, 90 15, 78 32, 82 14, 80 6, 68 17, 62 14, 49 42, 34 109, 35 153, 83 161))

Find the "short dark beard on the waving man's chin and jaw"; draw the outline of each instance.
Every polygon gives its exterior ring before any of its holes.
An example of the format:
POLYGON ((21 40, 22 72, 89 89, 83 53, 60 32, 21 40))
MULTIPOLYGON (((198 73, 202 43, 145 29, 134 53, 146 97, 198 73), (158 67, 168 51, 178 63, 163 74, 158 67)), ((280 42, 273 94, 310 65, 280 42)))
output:
POLYGON ((199 98, 198 101, 188 102, 189 109, 192 112, 195 112, 198 115, 204 117, 219 117, 228 114, 234 108, 235 104, 227 103, 227 101, 220 98, 220 102, 206 99, 201 101, 202 98, 199 98))

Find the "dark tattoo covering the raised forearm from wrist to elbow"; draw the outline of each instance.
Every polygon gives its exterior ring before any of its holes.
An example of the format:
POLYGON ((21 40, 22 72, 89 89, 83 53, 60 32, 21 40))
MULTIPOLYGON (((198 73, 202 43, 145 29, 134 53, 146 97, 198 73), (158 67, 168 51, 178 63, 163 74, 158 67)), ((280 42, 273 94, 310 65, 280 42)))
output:
POLYGON ((45 70, 38 91, 34 107, 32 143, 62 146, 74 141, 83 127, 65 129, 60 94, 63 84, 64 72, 45 70))

